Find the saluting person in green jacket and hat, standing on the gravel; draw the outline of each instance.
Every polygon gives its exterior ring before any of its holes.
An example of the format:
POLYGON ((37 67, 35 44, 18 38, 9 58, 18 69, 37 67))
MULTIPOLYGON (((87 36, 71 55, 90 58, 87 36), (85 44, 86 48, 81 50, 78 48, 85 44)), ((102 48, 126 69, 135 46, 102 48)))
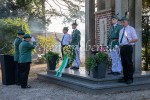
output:
POLYGON ((21 88, 30 88, 28 83, 28 75, 30 71, 30 64, 32 62, 32 50, 36 46, 35 41, 31 41, 29 34, 24 35, 24 40, 19 45, 19 63, 21 71, 21 88))

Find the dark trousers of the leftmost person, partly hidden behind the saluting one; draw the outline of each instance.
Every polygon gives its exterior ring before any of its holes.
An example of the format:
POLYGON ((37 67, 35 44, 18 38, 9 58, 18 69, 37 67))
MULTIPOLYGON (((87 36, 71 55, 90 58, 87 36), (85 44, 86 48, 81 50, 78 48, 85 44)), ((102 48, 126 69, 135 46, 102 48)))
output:
POLYGON ((15 83, 20 84, 20 65, 18 61, 15 61, 15 83))

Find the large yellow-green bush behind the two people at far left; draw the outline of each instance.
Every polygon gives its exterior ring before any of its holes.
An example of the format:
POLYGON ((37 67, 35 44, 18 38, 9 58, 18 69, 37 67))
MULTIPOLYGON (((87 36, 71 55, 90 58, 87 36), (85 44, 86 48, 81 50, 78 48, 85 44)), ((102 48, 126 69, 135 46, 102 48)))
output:
POLYGON ((26 33, 30 33, 28 24, 20 18, 0 19, 0 53, 13 54, 13 41, 22 26, 26 33))

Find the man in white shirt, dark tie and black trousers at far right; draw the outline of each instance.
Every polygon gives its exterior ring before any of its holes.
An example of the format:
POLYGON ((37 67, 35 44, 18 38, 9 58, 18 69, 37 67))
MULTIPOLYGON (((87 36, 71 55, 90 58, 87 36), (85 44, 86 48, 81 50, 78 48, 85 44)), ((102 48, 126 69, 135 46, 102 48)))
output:
POLYGON ((133 45, 138 41, 136 31, 133 27, 129 26, 128 18, 122 18, 122 26, 119 33, 120 55, 123 66, 124 77, 119 79, 119 82, 125 82, 126 84, 133 83, 133 45))

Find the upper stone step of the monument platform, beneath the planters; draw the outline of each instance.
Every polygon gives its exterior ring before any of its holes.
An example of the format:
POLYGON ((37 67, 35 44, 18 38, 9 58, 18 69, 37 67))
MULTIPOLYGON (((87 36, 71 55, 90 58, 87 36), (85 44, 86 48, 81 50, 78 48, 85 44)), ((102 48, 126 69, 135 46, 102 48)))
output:
MULTIPOLYGON (((55 75, 56 71, 47 71, 47 73, 49 75, 55 75)), ((91 77, 85 77, 85 76, 80 76, 80 75, 75 75, 75 74, 69 74, 69 73, 63 73, 62 77, 65 78, 71 78, 73 80, 80 80, 81 82, 86 82, 86 83, 92 83, 92 84, 110 84, 110 83, 116 83, 118 81, 118 79, 121 76, 107 76, 104 79, 95 79, 95 78, 91 78, 91 77)), ((140 74, 136 74, 134 75, 134 81, 144 81, 144 80, 150 80, 150 75, 140 75, 140 74)))

